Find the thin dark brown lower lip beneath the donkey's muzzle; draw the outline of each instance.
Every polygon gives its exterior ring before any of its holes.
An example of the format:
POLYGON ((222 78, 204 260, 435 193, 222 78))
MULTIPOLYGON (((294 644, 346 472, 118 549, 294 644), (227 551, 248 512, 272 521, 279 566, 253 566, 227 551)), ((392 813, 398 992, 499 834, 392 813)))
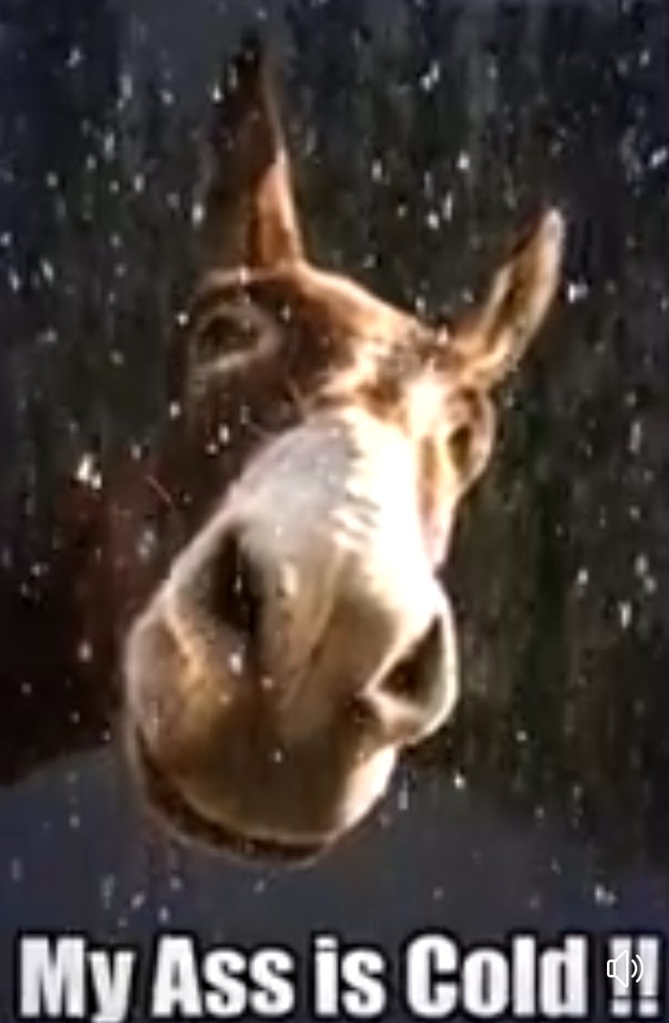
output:
POLYGON ((190 839, 216 852, 226 852, 233 858, 249 861, 273 861, 307 866, 328 844, 326 839, 312 842, 289 842, 279 839, 256 838, 218 820, 203 816, 187 802, 177 786, 168 777, 148 749, 141 727, 133 729, 136 765, 148 796, 148 805, 183 839, 190 839))

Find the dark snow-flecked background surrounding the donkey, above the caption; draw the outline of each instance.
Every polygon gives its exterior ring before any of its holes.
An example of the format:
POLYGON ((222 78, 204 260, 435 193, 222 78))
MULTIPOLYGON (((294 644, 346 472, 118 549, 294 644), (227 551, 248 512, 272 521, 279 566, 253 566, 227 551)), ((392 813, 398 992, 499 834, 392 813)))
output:
MULTIPOLYGON (((504 391, 447 571, 462 700, 374 819, 299 873, 171 845, 115 747, 45 753, 0 790, 5 997, 16 929, 301 946, 318 928, 392 943, 431 925, 493 941, 669 923, 661 0, 4 0, 2 564, 51 536, 86 452, 123 455, 165 421, 197 133, 250 23, 274 44, 319 260, 437 316, 541 203, 569 221, 560 302, 504 391)), ((15 583, 44 571, 21 563, 15 583)), ((5 664, 11 639, 0 623, 5 664)))

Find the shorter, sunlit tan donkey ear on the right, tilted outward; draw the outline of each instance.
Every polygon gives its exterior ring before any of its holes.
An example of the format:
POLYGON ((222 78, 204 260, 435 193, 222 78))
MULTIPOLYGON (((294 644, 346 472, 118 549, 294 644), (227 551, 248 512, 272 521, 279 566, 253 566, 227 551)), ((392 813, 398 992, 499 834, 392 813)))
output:
POLYGON ((554 298, 565 222, 548 210, 519 238, 486 299, 455 325, 449 351, 467 383, 494 387, 516 367, 554 298))

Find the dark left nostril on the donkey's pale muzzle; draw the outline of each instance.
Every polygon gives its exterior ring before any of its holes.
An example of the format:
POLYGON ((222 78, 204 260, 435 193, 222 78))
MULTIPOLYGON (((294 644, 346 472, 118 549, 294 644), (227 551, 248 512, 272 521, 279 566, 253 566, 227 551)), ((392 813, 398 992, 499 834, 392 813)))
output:
POLYGON ((262 615, 261 578, 235 533, 225 535, 209 567, 209 578, 210 613, 253 643, 262 615))

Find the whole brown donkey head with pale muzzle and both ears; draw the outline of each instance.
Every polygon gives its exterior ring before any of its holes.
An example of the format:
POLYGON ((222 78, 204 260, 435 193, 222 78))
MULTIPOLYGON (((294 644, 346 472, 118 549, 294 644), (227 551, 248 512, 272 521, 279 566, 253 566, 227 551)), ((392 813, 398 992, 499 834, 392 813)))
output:
POLYGON ((184 431, 227 447, 208 459, 208 517, 130 631, 128 732, 181 833, 304 857, 453 709, 438 572, 493 446, 491 391, 553 297, 563 222, 544 213, 482 303, 434 327, 308 261, 256 46, 210 157, 184 431))

